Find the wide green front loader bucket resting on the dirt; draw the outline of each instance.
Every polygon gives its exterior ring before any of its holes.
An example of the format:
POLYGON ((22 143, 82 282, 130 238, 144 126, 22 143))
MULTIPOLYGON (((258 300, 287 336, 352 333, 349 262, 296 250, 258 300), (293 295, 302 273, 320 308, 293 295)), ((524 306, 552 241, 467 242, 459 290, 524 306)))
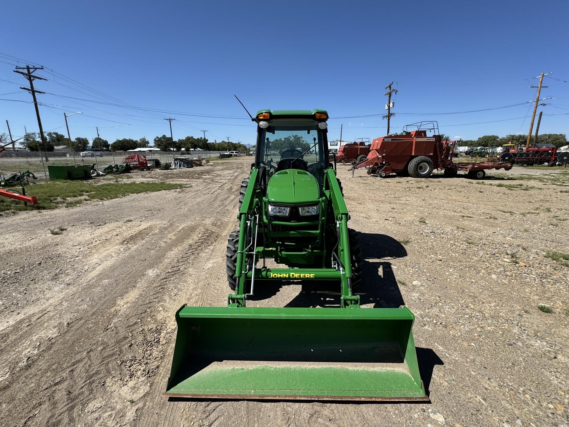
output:
POLYGON ((428 401, 399 309, 186 307, 164 396, 428 401))

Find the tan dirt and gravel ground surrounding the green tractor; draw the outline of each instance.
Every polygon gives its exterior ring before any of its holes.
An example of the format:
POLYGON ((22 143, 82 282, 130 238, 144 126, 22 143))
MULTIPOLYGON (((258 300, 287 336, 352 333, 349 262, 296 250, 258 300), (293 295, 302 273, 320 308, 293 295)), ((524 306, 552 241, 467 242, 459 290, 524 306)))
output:
MULTIPOLYGON (((415 313, 431 404, 160 396, 175 311, 226 303, 226 239, 250 162, 146 175, 182 190, 0 216, 0 425, 569 424, 569 269, 543 256, 569 252, 569 198, 545 180, 519 181, 534 187, 524 191, 339 168, 364 248, 362 305, 415 313)), ((337 301, 309 286, 265 292, 250 305, 337 301)))

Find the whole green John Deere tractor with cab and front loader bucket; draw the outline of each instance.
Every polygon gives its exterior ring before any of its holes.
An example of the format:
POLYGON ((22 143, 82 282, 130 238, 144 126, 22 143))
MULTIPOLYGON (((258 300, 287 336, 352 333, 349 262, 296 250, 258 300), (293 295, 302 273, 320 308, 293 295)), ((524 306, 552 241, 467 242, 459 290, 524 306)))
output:
POLYGON ((329 163, 328 113, 261 110, 230 233, 226 307, 176 313, 165 396, 428 400, 407 307, 360 309, 358 235, 329 163), (285 265, 273 268, 269 264, 285 265), (339 307, 248 307, 259 286, 327 281, 339 307))

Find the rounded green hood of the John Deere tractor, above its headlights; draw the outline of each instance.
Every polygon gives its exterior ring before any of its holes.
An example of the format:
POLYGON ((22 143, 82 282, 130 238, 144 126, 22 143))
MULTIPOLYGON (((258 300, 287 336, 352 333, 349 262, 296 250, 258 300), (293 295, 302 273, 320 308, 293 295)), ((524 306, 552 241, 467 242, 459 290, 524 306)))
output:
POLYGON ((320 198, 316 178, 299 169, 282 170, 271 176, 267 186, 269 203, 300 205, 320 198))

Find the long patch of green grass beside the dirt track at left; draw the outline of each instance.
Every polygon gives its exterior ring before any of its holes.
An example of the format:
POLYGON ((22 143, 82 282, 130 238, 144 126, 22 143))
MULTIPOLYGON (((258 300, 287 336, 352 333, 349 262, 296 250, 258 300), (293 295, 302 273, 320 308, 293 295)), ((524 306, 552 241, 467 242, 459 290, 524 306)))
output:
POLYGON ((55 209, 63 205, 72 207, 83 203, 85 200, 117 199, 129 194, 175 190, 176 188, 184 187, 180 184, 166 182, 104 183, 95 185, 88 181, 55 180, 26 187, 27 195, 38 198, 37 205, 28 204, 26 207, 18 200, 0 197, 0 212, 55 209))

